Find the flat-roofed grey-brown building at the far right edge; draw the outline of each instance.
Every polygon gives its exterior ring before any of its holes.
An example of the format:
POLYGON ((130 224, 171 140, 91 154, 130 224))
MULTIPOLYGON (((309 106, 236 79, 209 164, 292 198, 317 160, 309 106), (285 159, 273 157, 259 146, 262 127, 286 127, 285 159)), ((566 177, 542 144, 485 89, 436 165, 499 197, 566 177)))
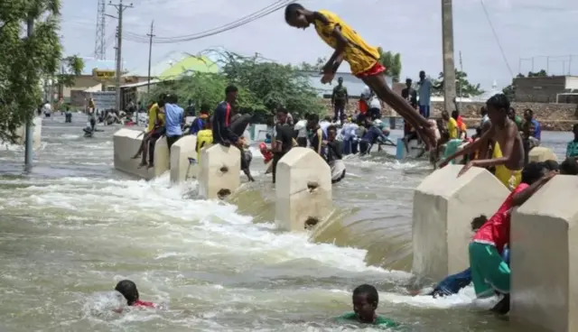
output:
POLYGON ((517 102, 578 103, 578 77, 514 78, 517 102))

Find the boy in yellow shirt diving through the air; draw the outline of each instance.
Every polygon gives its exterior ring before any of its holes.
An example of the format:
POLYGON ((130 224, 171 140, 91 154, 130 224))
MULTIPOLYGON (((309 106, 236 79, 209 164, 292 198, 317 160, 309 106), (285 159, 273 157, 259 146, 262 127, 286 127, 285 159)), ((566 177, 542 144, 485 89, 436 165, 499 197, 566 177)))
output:
POLYGON ((379 63, 378 49, 369 46, 350 25, 328 11, 312 12, 299 4, 287 5, 285 21, 295 28, 307 28, 313 24, 315 31, 331 48, 335 49, 323 67, 322 83, 330 83, 341 61, 350 64, 351 72, 363 80, 378 97, 392 106, 419 134, 428 148, 435 146, 435 134, 431 124, 414 107, 387 86, 385 67, 379 63))

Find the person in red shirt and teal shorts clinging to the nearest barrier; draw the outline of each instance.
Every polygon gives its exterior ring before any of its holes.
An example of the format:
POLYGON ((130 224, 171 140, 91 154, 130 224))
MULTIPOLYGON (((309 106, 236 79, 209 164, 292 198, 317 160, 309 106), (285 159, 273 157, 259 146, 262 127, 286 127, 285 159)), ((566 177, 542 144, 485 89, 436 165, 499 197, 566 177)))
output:
POLYGON ((541 162, 527 164, 522 171, 522 182, 471 239, 470 267, 474 291, 478 298, 492 296, 496 291, 504 294, 504 298, 493 309, 500 314, 509 311, 510 270, 501 254, 504 246, 509 244, 511 210, 524 204, 556 174, 545 174, 545 171, 541 162))

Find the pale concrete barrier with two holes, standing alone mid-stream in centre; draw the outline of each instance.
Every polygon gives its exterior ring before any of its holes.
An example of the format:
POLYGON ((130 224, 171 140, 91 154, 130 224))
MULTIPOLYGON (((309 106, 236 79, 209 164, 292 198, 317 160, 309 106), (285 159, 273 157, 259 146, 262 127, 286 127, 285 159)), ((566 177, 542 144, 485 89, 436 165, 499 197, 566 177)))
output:
POLYGON ((319 154, 296 147, 277 163, 275 224, 303 232, 331 212, 331 169, 319 154))

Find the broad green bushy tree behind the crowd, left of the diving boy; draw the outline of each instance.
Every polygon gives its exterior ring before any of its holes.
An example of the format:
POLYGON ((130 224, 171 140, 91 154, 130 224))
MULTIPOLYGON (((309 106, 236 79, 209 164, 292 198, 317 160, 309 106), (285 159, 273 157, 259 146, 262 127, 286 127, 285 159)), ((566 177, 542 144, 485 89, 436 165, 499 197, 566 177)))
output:
POLYGON ((214 107, 224 99, 225 88, 233 84, 239 89, 238 106, 249 114, 270 117, 279 106, 294 115, 327 112, 306 76, 290 65, 226 52, 221 66, 217 74, 195 73, 158 84, 151 95, 155 98, 168 91, 175 93, 181 103, 192 99, 198 106, 206 103, 214 107))

